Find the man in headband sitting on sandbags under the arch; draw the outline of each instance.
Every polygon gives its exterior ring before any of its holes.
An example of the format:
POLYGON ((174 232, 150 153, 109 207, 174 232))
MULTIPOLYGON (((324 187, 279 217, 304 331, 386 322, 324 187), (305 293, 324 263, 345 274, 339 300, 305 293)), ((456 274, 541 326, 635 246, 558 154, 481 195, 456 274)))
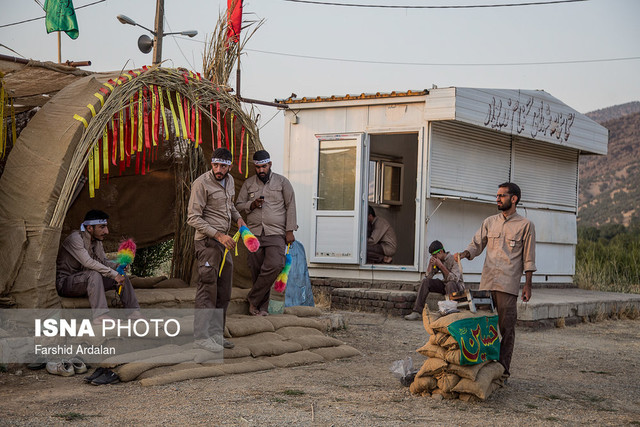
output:
POLYGON ((106 314, 106 290, 123 286, 120 299, 125 308, 131 309, 131 318, 140 316, 140 305, 129 278, 118 274, 118 264, 106 259, 102 240, 109 234, 109 215, 90 210, 84 217, 80 230, 72 232, 58 252, 56 261, 56 288, 63 297, 89 297, 93 321, 100 324, 108 319, 106 314))

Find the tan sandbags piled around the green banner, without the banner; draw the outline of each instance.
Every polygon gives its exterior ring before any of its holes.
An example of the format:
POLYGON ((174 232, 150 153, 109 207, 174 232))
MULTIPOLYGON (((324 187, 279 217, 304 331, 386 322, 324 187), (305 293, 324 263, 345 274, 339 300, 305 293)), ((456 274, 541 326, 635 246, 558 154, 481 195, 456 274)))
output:
MULTIPOLYGON (((427 356, 409 390, 422 396, 441 395, 444 399, 482 401, 503 384, 504 367, 495 360, 463 365, 458 340, 449 326, 459 320, 493 316, 492 313, 463 311, 446 316, 425 308, 422 319, 429 334, 427 343, 417 350, 427 356)), ((498 347, 499 348, 499 347, 498 347)))

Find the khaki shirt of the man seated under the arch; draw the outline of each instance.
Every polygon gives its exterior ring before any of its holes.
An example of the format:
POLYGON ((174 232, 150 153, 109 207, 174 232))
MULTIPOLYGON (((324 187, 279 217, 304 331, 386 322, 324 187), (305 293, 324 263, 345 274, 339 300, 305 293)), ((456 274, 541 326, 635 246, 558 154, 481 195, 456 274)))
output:
POLYGON ((100 240, 91 240, 86 231, 72 232, 58 251, 56 282, 75 273, 95 270, 104 277, 115 279, 118 263, 107 260, 100 240))

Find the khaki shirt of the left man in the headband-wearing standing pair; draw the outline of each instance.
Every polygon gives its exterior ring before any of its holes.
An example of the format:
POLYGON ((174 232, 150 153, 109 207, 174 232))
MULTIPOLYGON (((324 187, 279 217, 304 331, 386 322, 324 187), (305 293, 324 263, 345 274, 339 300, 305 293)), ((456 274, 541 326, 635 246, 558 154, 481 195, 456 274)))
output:
POLYGON ((236 189, 230 173, 225 181, 223 187, 213 171, 209 171, 191 184, 187 224, 196 229, 195 240, 213 238, 218 231, 227 234, 231 228, 231 221, 237 222, 240 218, 233 205, 236 189))

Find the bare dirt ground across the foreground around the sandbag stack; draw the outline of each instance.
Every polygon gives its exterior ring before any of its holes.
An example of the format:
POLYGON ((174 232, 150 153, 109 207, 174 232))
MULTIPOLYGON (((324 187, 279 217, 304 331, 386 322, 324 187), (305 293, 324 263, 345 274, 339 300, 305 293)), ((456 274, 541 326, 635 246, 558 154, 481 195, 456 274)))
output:
POLYGON ((158 387, 91 386, 15 367, 0 374, 0 424, 640 425, 640 321, 519 328, 512 376, 482 403, 414 396, 389 371, 427 340, 422 322, 339 312, 331 333, 362 356, 158 387))

